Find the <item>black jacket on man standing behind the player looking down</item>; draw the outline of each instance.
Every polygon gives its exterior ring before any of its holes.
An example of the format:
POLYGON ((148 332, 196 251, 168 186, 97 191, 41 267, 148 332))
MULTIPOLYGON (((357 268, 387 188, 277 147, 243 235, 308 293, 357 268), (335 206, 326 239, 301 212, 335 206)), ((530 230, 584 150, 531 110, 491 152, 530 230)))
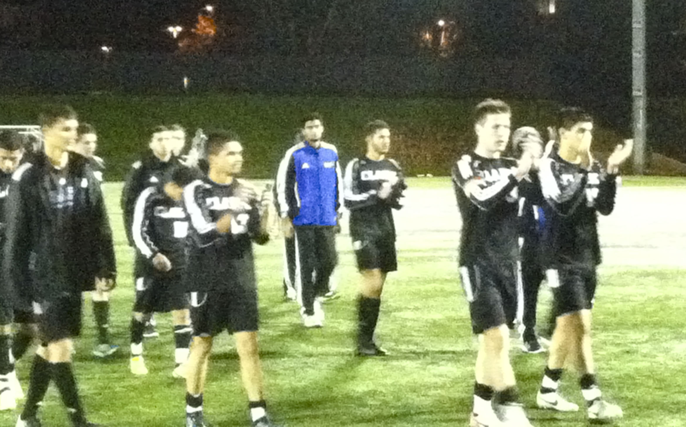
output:
POLYGON ((132 231, 133 212, 138 196, 145 188, 162 182, 165 174, 180 165, 179 159, 172 157, 163 162, 152 154, 131 165, 123 191, 121 191, 121 211, 123 212, 124 230, 130 246, 134 246, 132 231))

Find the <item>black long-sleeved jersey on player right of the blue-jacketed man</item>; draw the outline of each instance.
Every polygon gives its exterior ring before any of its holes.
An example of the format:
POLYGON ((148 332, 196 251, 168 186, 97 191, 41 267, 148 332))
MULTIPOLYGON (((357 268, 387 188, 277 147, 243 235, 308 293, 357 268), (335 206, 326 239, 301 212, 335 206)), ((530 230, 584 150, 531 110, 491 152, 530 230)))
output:
POLYGON ((392 159, 354 159, 348 163, 344 178, 344 202, 350 210, 350 234, 353 241, 395 240, 392 208, 400 209, 400 199, 407 188, 400 165, 392 159), (378 197, 383 182, 395 182, 390 196, 378 197))

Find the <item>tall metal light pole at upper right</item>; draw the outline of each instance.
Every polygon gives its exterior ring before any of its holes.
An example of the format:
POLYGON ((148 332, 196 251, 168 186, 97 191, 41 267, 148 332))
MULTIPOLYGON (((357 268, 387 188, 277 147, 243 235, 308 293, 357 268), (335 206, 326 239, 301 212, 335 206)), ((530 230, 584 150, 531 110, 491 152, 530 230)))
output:
POLYGON ((634 171, 646 166, 646 0, 633 1, 632 86, 634 99, 634 171))

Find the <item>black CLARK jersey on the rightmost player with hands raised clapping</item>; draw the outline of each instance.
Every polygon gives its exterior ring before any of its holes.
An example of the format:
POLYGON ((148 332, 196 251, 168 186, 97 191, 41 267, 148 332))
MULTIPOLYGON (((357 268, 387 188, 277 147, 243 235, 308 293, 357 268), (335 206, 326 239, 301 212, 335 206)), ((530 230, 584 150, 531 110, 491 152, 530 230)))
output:
POLYGON ((545 197, 545 227, 541 236, 543 265, 595 267, 600 264, 598 215, 609 215, 615 207, 616 175, 600 163, 590 171, 557 154, 541 163, 541 191, 545 197))

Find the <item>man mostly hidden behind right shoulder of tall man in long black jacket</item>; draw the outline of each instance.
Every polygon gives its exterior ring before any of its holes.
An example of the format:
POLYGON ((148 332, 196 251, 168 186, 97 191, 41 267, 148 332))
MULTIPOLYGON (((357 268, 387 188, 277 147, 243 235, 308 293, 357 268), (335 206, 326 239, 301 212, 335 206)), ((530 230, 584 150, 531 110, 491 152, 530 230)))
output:
MULTIPOLYGON (((69 149, 90 160, 93 175, 102 184, 105 162, 102 158, 95 156, 95 149, 97 149, 95 127, 89 123, 79 123, 76 142, 69 149)), ((93 348, 93 355, 99 358, 110 356, 119 350, 119 345, 110 343, 110 286, 96 289, 95 283, 89 280, 84 283, 83 291, 90 292, 93 298, 93 317, 97 326, 97 344, 93 348)))

